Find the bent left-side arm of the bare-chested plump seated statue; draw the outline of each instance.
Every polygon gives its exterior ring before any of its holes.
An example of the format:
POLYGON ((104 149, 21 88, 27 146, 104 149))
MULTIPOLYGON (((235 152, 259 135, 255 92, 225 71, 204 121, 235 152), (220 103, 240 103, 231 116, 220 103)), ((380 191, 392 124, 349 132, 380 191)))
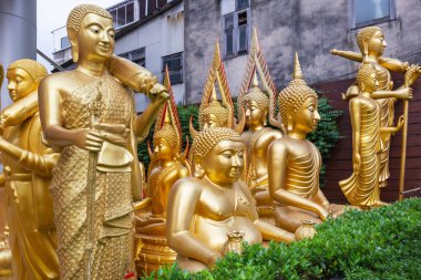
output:
POLYGON ((213 266, 220 252, 210 249, 191 231, 202 188, 192 178, 178 180, 170 193, 167 205, 167 239, 177 253, 213 266))

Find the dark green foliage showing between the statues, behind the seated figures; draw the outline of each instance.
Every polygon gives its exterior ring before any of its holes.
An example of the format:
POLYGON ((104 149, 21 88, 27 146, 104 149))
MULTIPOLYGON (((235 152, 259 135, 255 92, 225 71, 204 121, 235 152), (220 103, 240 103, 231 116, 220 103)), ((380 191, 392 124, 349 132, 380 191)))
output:
MULTIPOLYGON (((320 93, 319 93, 320 94, 320 93)), ((182 132, 184 135, 184 145, 186 135, 188 136, 189 144, 192 145, 192 136, 188 132, 188 122, 191 116, 193 116, 193 124, 196 129, 198 129, 198 106, 199 105, 187 105, 187 106, 177 106, 179 122, 182 123, 182 132)), ((234 100, 234 107, 237 107, 236 100, 234 100)), ((339 129, 336 123, 336 118, 342 115, 342 111, 335 111, 330 105, 329 101, 326 97, 319 98, 318 111, 321 117, 317 129, 314 133, 308 135, 308 139, 315 143, 315 145, 319 148, 322 160, 329 158, 329 155, 336 144, 338 143, 340 135, 339 129)), ((152 126, 154 127, 154 126, 152 126)), ((275 127, 274 127, 275 128, 275 127)), ((151 129, 148 137, 138 145, 138 159, 145 165, 146 169, 150 164, 150 157, 147 154, 147 142, 151 141, 152 145, 153 129, 151 129)), ((321 166, 320 170, 320 187, 325 186, 326 168, 325 164, 321 166)))

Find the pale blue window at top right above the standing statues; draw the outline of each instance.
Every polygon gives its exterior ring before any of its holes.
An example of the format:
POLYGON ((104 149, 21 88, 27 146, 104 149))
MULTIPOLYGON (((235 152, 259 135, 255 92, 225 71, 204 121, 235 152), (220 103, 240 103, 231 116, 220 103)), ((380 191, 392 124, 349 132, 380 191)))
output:
POLYGON ((396 19, 394 0, 351 0, 351 28, 362 28, 396 19))

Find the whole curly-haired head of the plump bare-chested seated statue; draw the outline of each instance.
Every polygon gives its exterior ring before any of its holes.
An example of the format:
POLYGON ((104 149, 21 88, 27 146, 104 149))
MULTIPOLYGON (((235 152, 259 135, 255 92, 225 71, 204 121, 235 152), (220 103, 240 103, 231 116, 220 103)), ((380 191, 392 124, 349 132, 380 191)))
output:
POLYGON ((194 176, 206 176, 216 185, 230 186, 242 175, 244 148, 240 135, 230 128, 198 132, 192 145, 194 176))

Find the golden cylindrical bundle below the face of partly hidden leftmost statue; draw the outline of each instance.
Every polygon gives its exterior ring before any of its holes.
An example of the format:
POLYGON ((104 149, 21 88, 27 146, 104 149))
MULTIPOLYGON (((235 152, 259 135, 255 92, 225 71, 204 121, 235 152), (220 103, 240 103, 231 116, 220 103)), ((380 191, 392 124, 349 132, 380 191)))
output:
POLYGON ((0 128, 18 125, 37 112, 38 92, 33 92, 1 111, 0 128))

